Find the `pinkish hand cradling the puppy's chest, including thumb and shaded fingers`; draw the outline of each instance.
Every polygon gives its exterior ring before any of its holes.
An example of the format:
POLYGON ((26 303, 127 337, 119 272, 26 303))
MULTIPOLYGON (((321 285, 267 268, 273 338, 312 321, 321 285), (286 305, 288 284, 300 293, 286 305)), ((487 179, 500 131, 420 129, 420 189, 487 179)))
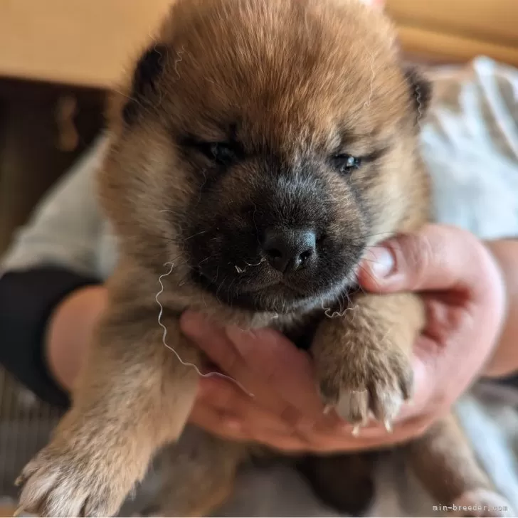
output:
POLYGON ((233 440, 317 452, 384 447, 423 433, 448 412, 490 356, 504 317, 499 269, 470 233, 427 226, 372 248, 359 282, 371 292, 423 292, 427 324, 414 349, 416 395, 393 433, 371 423, 354 438, 347 423, 324 416, 310 356, 280 334, 223 330, 187 312, 184 332, 255 395, 224 379, 202 379, 191 421, 233 440))

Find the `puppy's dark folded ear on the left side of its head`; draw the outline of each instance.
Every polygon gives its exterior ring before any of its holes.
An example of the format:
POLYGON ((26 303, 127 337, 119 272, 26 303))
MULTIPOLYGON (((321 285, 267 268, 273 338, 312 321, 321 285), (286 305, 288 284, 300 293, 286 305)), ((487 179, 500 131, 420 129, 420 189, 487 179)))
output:
POLYGON ((122 110, 122 118, 131 125, 139 107, 157 93, 157 83, 164 71, 167 49, 163 45, 148 48, 134 69, 129 100, 122 110))

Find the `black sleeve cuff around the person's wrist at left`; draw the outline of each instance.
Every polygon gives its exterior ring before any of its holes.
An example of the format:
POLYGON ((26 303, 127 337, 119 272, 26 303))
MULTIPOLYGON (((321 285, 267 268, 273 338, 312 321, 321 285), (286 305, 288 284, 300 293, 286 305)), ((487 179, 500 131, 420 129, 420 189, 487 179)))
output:
POLYGON ((0 363, 43 401, 68 406, 43 353, 46 325, 70 292, 99 281, 71 270, 41 267, 0 277, 0 363))

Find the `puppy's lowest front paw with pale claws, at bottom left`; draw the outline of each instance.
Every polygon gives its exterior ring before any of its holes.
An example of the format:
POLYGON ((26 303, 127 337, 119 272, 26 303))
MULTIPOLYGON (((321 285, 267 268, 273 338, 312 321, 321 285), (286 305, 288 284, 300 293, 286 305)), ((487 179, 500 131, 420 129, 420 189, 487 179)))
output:
POLYGON ((130 487, 100 451, 49 445, 23 469, 19 509, 41 517, 107 517, 117 513, 130 487))

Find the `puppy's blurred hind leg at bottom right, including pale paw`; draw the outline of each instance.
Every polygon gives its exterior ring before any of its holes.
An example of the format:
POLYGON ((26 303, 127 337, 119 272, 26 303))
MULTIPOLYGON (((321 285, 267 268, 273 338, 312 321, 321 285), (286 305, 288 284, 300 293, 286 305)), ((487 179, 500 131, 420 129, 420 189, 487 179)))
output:
POLYGON ((514 516, 482 471, 455 416, 444 418, 407 448, 413 471, 451 516, 514 516))

